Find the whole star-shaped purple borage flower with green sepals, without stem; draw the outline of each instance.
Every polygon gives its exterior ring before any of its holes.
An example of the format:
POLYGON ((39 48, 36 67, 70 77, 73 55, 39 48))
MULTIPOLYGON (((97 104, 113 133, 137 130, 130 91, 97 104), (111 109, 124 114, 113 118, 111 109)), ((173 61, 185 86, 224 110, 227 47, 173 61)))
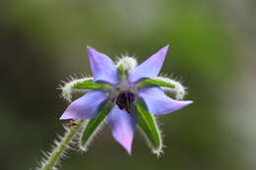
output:
POLYGON ((171 113, 192 101, 182 101, 185 88, 178 82, 158 77, 168 45, 161 48, 144 63, 137 66, 132 57, 123 57, 116 64, 88 47, 93 78, 72 80, 64 85, 63 96, 71 99, 73 92, 86 92, 73 101, 60 119, 86 119, 80 147, 87 149, 89 142, 105 118, 113 138, 129 154, 137 125, 154 153, 160 154, 162 142, 154 115, 171 113), (165 92, 174 92, 176 100, 165 92))

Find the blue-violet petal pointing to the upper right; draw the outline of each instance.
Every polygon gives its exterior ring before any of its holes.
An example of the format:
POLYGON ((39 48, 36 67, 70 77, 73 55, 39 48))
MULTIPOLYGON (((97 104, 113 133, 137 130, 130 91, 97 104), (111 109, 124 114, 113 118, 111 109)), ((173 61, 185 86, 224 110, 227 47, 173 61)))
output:
POLYGON ((165 55, 168 50, 168 45, 161 48, 156 54, 151 56, 141 65, 136 67, 134 70, 130 71, 129 73, 129 82, 136 83, 140 79, 143 78, 156 78, 160 73, 160 68, 164 61, 165 55))

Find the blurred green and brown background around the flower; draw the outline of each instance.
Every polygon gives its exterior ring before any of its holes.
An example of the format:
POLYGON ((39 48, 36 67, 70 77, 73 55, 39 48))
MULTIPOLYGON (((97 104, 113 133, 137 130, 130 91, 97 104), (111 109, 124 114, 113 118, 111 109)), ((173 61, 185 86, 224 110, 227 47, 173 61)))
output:
POLYGON ((142 62, 165 44, 162 72, 195 103, 159 118, 164 155, 137 132, 129 156, 106 126, 61 169, 256 169, 255 10, 254 0, 2 0, 0 169, 33 169, 63 132, 56 87, 91 73, 87 45, 142 62))

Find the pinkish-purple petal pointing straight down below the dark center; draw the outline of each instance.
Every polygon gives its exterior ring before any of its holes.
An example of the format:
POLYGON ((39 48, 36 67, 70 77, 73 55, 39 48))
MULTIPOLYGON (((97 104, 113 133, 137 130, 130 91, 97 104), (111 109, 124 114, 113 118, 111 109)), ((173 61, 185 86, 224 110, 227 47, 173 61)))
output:
POLYGON ((125 110, 120 110, 115 105, 108 114, 107 121, 111 127, 113 138, 131 154, 134 130, 137 124, 135 116, 125 110))

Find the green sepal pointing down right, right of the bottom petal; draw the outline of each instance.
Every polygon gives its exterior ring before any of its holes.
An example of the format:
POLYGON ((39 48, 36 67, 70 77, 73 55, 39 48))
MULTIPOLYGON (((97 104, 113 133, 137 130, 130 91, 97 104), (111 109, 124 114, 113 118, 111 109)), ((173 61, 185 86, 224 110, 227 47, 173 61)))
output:
POLYGON ((154 115, 146 109, 145 103, 142 100, 137 100, 134 102, 134 105, 138 113, 138 124, 146 138, 146 141, 149 143, 152 151, 160 155, 162 140, 154 115))

